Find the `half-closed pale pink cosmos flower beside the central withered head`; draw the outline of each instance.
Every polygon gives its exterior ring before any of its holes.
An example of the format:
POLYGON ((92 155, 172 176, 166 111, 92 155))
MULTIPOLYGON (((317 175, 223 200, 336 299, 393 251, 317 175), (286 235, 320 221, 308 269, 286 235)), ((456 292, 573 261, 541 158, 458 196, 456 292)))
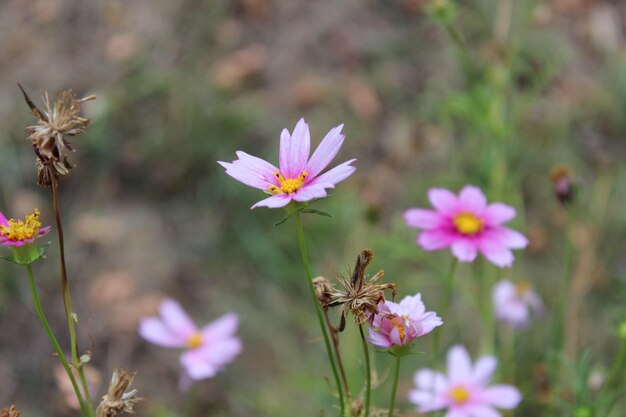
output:
POLYGON ((408 345, 415 338, 441 326, 443 320, 432 311, 426 311, 421 294, 406 296, 400 303, 384 301, 378 304, 378 313, 370 319, 368 340, 376 347, 387 349, 408 345))

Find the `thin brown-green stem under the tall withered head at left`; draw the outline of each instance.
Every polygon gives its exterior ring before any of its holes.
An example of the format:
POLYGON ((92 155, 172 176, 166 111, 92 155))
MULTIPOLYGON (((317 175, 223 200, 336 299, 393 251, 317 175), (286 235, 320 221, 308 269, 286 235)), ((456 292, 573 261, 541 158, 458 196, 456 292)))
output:
POLYGON ((52 202, 54 205, 54 213, 56 219, 57 233, 59 236, 59 259, 61 264, 61 292, 63 295, 63 306, 65 307, 65 318, 67 320, 67 326, 70 333, 70 348, 72 365, 76 368, 80 377, 80 382, 85 394, 85 400, 87 402, 88 416, 95 416, 93 409, 93 403, 91 401, 91 395, 89 394, 89 386, 87 385, 87 379, 85 378, 85 372, 83 370, 83 363, 78 358, 78 344, 76 342, 76 325, 74 322, 74 312, 72 311, 72 301, 70 298, 70 287, 67 279, 67 268, 65 266, 65 239, 63 235, 63 224, 61 222, 61 209, 59 208, 59 193, 58 183, 54 170, 48 167, 48 175, 50 177, 50 190, 52 191, 52 202))

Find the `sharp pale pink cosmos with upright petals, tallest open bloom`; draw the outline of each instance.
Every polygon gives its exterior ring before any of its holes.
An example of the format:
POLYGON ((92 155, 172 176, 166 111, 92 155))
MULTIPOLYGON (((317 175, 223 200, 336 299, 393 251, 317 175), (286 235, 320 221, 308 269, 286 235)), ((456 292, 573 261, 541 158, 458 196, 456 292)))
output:
POLYGON ((283 129, 278 156, 280 169, 243 151, 236 152, 239 157, 236 161, 218 163, 237 181, 272 195, 252 208, 278 208, 292 200, 304 202, 323 198, 327 196, 327 188, 335 188, 356 169, 350 165, 356 159, 351 159, 320 175, 343 144, 342 128, 343 125, 339 125, 331 129, 310 159, 311 135, 304 119, 300 119, 291 135, 283 129))

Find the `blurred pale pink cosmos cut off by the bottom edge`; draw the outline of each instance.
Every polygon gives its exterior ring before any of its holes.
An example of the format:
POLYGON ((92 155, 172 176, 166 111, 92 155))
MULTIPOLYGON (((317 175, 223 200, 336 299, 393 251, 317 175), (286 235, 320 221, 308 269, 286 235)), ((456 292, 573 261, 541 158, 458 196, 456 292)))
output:
POLYGON ((500 417, 495 408, 513 409, 522 396, 512 385, 488 386, 496 366, 493 356, 483 356, 472 366, 467 350, 454 346, 448 351, 448 375, 418 371, 409 401, 420 413, 446 409, 446 417, 500 417))

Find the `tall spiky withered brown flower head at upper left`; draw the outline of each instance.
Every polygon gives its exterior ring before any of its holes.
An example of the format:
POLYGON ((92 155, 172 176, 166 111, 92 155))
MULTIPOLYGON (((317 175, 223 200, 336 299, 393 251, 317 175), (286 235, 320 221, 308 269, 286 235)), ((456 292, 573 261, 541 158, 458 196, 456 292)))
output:
POLYGON ((67 175, 72 165, 67 159, 66 150, 73 150, 68 140, 69 136, 76 136, 84 131, 91 120, 80 116, 80 104, 87 100, 93 100, 96 96, 77 98, 71 90, 63 91, 54 104, 50 103, 48 93, 41 96, 44 110, 41 111, 28 97, 26 91, 18 84, 24 99, 30 110, 37 118, 37 123, 28 126, 35 154, 37 155, 37 171, 39 172, 38 183, 45 187, 50 184, 50 173, 44 172, 50 169, 54 175, 67 175))

